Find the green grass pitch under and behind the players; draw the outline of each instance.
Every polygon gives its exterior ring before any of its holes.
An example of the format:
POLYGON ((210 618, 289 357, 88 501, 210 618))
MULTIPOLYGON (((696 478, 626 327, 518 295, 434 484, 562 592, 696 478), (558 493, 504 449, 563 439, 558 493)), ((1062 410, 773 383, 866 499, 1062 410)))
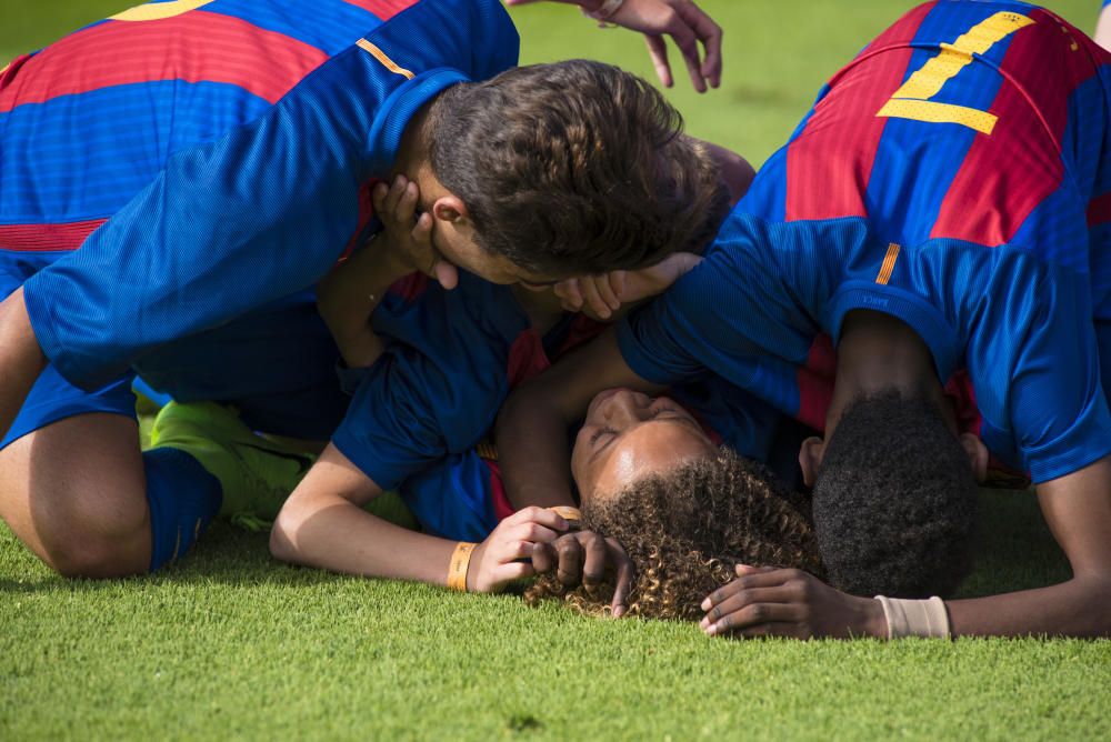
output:
MULTIPOLYGON (((908 2, 707 0, 725 81, 672 99, 762 162, 822 80, 908 2)), ((1095 0, 1052 2, 1091 28, 1095 0)), ((0 57, 119 10, 0 0, 0 57)), ((568 8, 514 12, 529 61, 651 76, 642 42, 568 8)), ((2 64, 3 62, 0 62, 2 64)), ((678 76, 677 76, 678 77, 678 76)), ((985 493, 967 595, 1068 565, 1027 493, 985 493)), ((152 578, 52 575, 0 527, 0 739, 1109 739, 1111 642, 730 642, 272 562, 214 527, 152 578)))

